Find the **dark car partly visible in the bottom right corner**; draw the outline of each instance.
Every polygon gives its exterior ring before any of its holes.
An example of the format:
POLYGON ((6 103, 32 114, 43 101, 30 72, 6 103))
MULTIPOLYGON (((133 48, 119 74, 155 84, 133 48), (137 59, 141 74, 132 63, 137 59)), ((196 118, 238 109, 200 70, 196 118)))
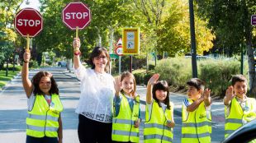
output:
POLYGON ((239 127, 236 131, 234 131, 230 136, 225 138, 222 143, 245 143, 245 142, 256 142, 256 119, 251 122, 248 122, 242 127, 239 127), (255 140, 255 141, 253 141, 255 140))

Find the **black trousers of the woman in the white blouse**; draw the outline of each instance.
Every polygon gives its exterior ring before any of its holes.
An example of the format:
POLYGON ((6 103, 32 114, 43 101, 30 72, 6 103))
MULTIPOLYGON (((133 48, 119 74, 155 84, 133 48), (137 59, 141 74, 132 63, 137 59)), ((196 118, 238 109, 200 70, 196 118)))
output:
POLYGON ((79 114, 80 143, 111 143, 112 123, 97 122, 79 114))

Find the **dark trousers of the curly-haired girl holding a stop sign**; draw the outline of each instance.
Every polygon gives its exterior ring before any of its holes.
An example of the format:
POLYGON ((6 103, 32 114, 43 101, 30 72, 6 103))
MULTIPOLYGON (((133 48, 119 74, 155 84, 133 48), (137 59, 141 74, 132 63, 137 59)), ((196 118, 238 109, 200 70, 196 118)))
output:
POLYGON ((26 135, 26 143, 58 143, 57 137, 33 137, 26 135))

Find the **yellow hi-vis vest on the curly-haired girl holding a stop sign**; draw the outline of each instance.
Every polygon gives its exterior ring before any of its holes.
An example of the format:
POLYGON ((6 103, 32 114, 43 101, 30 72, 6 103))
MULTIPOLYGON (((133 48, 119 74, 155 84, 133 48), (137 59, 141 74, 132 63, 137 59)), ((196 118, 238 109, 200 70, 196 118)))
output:
POLYGON ((31 111, 26 118, 26 135, 34 137, 58 137, 59 113, 63 106, 59 95, 51 95, 49 105, 43 95, 36 95, 31 111))

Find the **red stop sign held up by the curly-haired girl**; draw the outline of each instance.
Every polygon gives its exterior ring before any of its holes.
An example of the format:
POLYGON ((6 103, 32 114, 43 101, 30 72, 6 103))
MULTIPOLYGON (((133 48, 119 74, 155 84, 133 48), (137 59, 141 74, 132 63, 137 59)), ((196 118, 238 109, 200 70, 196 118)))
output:
POLYGON ((20 35, 35 37, 43 30, 43 18, 36 9, 24 8, 15 16, 14 26, 20 35))

